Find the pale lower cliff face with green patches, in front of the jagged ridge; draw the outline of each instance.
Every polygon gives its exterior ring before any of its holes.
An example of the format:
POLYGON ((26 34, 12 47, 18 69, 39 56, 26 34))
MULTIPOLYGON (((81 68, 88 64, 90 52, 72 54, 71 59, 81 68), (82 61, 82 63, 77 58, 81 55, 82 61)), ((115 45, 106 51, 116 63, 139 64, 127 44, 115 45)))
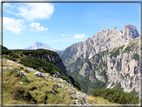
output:
POLYGON ((88 94, 96 88, 117 88, 138 93, 141 75, 139 43, 140 37, 137 37, 118 47, 99 52, 90 59, 77 58, 68 64, 67 71, 88 94))

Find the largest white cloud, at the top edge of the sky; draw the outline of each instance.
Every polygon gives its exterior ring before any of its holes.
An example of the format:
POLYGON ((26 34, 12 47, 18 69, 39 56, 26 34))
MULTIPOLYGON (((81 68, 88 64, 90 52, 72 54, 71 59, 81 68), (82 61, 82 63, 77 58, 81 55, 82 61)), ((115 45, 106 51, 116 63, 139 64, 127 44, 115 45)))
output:
POLYGON ((50 18, 54 12, 54 6, 49 3, 25 3, 19 7, 18 16, 23 16, 27 21, 34 19, 50 18))

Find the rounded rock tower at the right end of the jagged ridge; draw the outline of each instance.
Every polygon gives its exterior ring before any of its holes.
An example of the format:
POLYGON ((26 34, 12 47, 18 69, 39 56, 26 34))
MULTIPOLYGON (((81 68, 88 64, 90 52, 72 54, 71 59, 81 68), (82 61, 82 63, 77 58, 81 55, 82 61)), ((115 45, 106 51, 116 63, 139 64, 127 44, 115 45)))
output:
POLYGON ((136 26, 132 24, 126 24, 123 29, 123 35, 125 38, 134 39, 138 37, 140 34, 136 28, 136 26))

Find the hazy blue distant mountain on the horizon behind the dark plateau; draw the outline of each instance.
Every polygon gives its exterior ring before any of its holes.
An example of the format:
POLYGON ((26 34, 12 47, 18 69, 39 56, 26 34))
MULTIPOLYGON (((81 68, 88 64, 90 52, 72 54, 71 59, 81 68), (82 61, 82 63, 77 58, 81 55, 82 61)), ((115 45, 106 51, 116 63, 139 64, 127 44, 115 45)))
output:
POLYGON ((47 49, 47 50, 52 50, 52 51, 64 51, 65 49, 53 49, 50 46, 46 45, 45 43, 41 42, 35 42, 32 46, 29 46, 28 48, 25 48, 28 50, 36 50, 36 49, 47 49))

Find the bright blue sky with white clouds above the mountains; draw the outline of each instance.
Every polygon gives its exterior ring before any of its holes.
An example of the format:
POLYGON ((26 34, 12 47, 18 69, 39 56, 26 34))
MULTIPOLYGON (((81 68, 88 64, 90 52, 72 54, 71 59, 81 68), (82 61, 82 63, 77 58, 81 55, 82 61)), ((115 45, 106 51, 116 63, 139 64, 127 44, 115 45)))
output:
POLYGON ((56 49, 91 38, 102 28, 140 30, 139 3, 4 3, 3 45, 24 49, 42 42, 56 49))

